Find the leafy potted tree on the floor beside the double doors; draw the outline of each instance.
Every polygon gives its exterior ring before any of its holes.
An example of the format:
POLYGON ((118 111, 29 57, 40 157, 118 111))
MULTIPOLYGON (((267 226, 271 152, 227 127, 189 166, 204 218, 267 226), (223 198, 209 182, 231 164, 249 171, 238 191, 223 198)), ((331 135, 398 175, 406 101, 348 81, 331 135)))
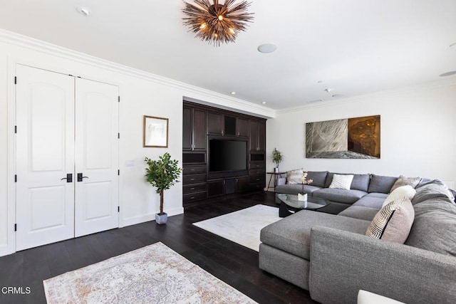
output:
POLYGON ((144 161, 147 163, 145 179, 152 187, 157 187, 157 193, 160 194, 160 213, 155 214, 155 221, 157 224, 166 224, 168 216, 163 212, 163 192, 170 189, 175 182, 179 182, 177 178, 182 168, 177 166, 177 160, 171 159, 168 152, 158 157, 158 160, 146 157, 144 161))

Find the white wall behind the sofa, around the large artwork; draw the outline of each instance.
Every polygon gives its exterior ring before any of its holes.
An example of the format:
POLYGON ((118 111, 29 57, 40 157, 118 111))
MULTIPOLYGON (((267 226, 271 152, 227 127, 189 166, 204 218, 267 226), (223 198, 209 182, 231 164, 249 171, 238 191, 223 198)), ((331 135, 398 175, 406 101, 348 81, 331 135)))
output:
POLYGON ((284 152, 281 171, 374 173, 456 181, 456 80, 284 110, 267 120, 267 168, 271 151, 284 152), (380 115, 380 159, 308 159, 305 124, 380 115))

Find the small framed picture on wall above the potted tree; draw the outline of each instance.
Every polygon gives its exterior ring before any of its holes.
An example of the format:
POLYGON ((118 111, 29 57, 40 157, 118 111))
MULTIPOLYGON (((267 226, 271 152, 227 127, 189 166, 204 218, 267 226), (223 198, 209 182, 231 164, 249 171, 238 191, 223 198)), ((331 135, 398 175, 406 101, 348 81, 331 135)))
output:
POLYGON ((142 147, 168 147, 168 119, 144 115, 142 147))

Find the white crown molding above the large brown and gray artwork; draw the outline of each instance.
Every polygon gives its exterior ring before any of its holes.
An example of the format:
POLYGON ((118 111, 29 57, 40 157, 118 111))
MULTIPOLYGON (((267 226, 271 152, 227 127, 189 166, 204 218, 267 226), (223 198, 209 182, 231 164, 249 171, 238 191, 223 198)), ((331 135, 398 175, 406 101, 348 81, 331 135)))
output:
POLYGON ((326 101, 326 102, 321 102, 321 103, 309 103, 307 105, 300 105, 298 107, 282 108, 282 109, 276 110, 276 114, 278 115, 278 114, 285 114, 285 113, 290 113, 290 112, 299 112, 299 111, 308 110, 311 108, 325 108, 325 107, 331 107, 331 105, 341 105, 343 103, 354 103, 354 102, 357 102, 360 100, 381 98, 381 97, 387 96, 387 95, 390 96, 390 95, 407 94, 407 93, 417 92, 420 90, 443 88, 443 87, 448 87, 448 86, 452 86, 452 85, 456 85, 456 77, 435 80, 435 81, 431 81, 428 83, 420 83, 418 85, 408 85, 403 88, 395 88, 395 89, 391 89, 391 90, 382 90, 382 91, 378 91, 375 93, 356 95, 356 96, 348 97, 348 98, 338 98, 336 100, 331 100, 331 101, 326 101))

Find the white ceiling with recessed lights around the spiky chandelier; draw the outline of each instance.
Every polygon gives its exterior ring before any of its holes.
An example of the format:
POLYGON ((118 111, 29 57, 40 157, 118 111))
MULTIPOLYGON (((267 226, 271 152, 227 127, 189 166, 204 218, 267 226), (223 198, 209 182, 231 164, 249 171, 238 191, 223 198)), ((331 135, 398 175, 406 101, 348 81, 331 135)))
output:
POLYGON ((254 23, 218 48, 182 25, 180 0, 0 0, 0 28, 272 109, 456 70, 455 0, 251 1, 254 23))

